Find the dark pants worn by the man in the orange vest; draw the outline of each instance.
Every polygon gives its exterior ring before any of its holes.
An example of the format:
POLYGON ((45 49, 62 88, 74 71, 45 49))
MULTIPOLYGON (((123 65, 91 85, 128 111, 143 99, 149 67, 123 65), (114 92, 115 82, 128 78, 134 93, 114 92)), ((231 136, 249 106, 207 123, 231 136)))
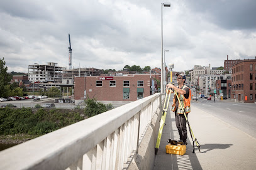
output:
MULTIPOLYGON (((187 116, 188 114, 186 114, 187 116)), ((182 140, 184 143, 187 141, 187 120, 184 114, 177 114, 175 111, 175 122, 176 127, 179 130, 179 139, 182 140)))

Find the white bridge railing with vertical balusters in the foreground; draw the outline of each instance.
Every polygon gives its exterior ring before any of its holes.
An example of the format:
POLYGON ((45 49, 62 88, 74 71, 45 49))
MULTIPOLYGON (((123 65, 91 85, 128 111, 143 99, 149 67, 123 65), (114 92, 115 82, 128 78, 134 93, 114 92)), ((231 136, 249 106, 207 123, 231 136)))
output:
POLYGON ((0 169, 124 169, 160 100, 156 93, 1 151, 0 169))

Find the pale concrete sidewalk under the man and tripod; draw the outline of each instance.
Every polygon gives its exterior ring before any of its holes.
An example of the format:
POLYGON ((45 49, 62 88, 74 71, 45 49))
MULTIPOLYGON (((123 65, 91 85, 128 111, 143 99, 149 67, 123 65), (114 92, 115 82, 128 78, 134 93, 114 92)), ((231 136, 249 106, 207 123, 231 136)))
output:
MULTIPOLYGON (((196 107, 191 107, 189 124, 201 144, 195 147, 187 128, 186 154, 165 153, 168 139, 179 140, 174 112, 167 115, 154 169, 256 169, 256 139, 196 107)), ((195 144, 196 145, 196 144, 195 144)))

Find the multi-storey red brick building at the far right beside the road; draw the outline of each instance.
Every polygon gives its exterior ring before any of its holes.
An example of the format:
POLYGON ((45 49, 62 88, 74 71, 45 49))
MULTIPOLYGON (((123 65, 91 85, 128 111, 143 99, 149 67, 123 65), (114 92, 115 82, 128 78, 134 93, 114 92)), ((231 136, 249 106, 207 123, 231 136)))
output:
POLYGON ((245 103, 256 101, 256 59, 240 60, 232 65, 231 98, 245 103))

